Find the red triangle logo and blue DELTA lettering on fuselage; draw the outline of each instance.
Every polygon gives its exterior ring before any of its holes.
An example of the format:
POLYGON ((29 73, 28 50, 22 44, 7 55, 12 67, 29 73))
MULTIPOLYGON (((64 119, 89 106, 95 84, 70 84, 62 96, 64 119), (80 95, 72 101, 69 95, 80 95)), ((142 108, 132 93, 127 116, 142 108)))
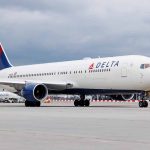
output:
POLYGON ((112 68, 112 67, 118 67, 118 66, 119 66, 119 61, 104 61, 104 62, 98 62, 96 65, 94 63, 90 64, 89 70, 112 68))

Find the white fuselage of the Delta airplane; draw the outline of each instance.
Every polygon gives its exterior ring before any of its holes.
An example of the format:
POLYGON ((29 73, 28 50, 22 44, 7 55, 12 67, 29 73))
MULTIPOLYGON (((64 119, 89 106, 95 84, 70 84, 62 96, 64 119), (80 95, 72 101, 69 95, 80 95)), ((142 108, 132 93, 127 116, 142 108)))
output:
POLYGON ((150 91, 150 64, 145 56, 119 56, 11 67, 0 71, 1 80, 73 83, 73 89, 150 91))

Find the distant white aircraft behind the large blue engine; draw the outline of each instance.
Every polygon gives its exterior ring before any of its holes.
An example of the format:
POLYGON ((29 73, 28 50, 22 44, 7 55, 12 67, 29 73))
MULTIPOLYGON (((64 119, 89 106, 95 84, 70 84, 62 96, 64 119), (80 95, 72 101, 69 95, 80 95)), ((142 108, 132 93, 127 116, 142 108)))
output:
POLYGON ((8 92, 8 91, 0 91, 0 101, 5 102, 20 102, 23 101, 23 98, 17 94, 8 92))

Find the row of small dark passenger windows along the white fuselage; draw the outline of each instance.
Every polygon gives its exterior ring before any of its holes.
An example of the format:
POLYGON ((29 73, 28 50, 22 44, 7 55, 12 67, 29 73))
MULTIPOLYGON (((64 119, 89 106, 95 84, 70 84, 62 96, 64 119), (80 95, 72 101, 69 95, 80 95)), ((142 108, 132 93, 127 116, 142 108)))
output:
MULTIPOLYGON (((97 69, 97 70, 89 70, 89 73, 96 73, 96 72, 109 72, 110 69, 97 69)), ((38 73, 38 74, 26 74, 26 75, 9 75, 8 78, 24 78, 24 77, 38 77, 38 76, 55 76, 55 75, 67 75, 67 74, 82 74, 82 73, 87 73, 87 71, 73 71, 73 72, 52 72, 52 73, 38 73)))

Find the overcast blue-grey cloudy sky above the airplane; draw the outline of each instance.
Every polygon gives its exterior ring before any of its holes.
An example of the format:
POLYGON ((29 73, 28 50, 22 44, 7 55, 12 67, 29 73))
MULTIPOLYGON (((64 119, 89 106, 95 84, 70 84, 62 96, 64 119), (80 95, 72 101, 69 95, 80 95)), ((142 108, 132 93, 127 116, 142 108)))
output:
POLYGON ((0 0, 0 42, 14 65, 150 56, 150 1, 0 0))

